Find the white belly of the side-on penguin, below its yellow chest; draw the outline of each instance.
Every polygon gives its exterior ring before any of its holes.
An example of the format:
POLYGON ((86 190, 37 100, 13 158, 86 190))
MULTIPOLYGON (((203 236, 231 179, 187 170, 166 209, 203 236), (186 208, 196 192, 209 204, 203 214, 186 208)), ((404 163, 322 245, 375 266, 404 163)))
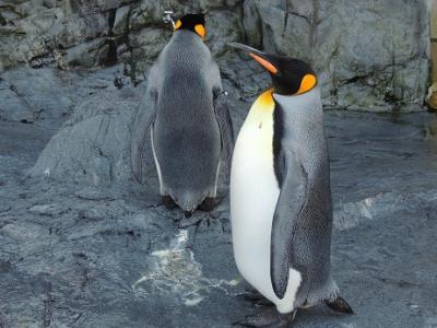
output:
POLYGON ((280 195, 273 171, 272 121, 246 121, 238 136, 231 173, 231 216, 235 260, 241 276, 279 312, 290 313, 300 274, 291 270, 287 291, 280 300, 270 278, 272 220, 280 195))

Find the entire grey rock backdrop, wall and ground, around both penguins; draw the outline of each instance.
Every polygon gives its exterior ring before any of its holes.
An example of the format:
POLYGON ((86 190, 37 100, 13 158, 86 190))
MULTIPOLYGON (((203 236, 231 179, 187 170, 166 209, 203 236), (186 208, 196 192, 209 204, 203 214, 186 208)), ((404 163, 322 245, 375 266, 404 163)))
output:
POLYGON ((0 328, 232 327, 260 311, 223 179, 187 219, 161 203, 151 152, 144 185, 131 176, 166 9, 208 11, 236 132, 269 77, 227 42, 319 72, 332 274, 356 314, 302 309, 294 327, 437 327, 437 117, 404 113, 427 83, 424 1, 0 0, 0 328))

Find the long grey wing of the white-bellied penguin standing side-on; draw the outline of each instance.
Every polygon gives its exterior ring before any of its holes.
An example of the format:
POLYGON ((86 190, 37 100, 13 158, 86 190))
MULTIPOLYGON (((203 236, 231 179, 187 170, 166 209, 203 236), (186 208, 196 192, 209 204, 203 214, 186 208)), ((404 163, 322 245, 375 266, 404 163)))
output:
POLYGON ((270 277, 274 293, 283 298, 293 267, 293 237, 305 204, 308 175, 293 151, 281 150, 279 156, 282 185, 272 223, 270 277))

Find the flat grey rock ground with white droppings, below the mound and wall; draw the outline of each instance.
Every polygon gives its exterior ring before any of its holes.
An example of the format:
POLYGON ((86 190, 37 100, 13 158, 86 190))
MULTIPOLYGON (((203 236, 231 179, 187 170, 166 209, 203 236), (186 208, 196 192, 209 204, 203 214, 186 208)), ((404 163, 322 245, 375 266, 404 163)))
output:
MULTIPOLYGON (((327 128, 333 277, 356 314, 299 311, 294 327, 435 327, 437 117, 327 112, 327 128)), ((231 327, 259 311, 238 296, 226 189, 188 220, 156 181, 23 179, 55 132, 0 122, 1 327, 231 327)))

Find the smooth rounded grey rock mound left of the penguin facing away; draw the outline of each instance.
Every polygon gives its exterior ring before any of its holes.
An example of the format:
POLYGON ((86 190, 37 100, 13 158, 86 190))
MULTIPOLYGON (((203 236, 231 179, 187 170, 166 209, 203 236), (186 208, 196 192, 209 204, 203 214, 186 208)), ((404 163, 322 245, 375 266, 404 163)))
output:
POLYGON ((139 99, 129 89, 91 96, 50 140, 29 175, 49 172, 54 178, 94 185, 131 179, 128 144, 139 99))

